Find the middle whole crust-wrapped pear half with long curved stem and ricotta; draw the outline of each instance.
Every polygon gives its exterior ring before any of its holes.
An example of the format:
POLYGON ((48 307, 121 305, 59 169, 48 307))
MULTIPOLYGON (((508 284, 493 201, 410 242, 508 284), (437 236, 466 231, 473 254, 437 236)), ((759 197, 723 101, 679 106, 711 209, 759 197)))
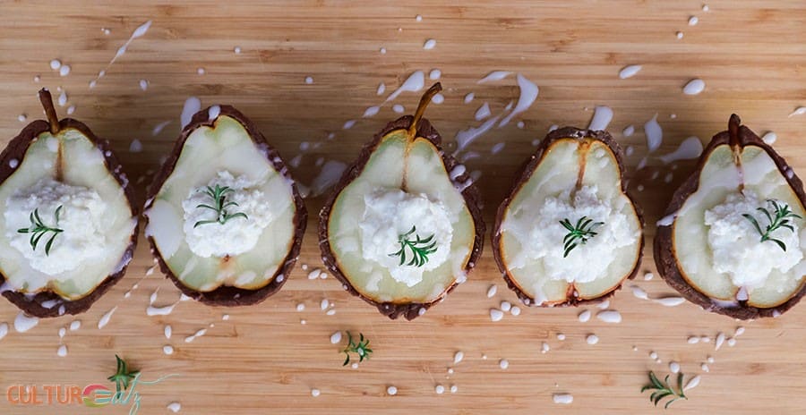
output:
POLYGON ((389 318, 422 315, 467 278, 482 250, 476 187, 422 118, 441 89, 434 84, 414 116, 364 146, 319 216, 325 265, 389 318))

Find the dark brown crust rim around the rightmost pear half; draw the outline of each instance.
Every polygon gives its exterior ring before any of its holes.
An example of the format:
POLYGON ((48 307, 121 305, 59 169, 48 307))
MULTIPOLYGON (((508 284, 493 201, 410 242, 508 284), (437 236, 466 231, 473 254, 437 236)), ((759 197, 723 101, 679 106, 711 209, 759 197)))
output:
MULTIPOLYGON (((798 199, 801 200, 802 205, 806 206, 806 193, 803 191, 803 183, 801 182, 801 179, 794 174, 794 171, 792 177, 787 177, 785 171, 787 168, 791 170, 791 167, 786 164, 784 157, 779 156, 772 147, 767 145, 767 143, 765 143, 763 140, 759 139, 759 136, 757 136, 753 131, 750 131, 750 129, 744 125, 742 125, 739 129, 739 140, 742 147, 749 145, 758 146, 766 151, 767 155, 769 155, 769 157, 776 162, 778 171, 785 178, 789 186, 792 187, 798 199)), ((678 267, 677 260, 674 256, 672 229, 674 223, 677 222, 677 211, 680 210, 683 203, 689 198, 691 193, 697 191, 699 188, 699 174, 702 172, 702 168, 705 165, 708 156, 717 146, 720 145, 730 145, 730 134, 728 131, 719 132, 714 136, 714 138, 711 139, 711 142, 708 143, 707 147, 702 152, 702 156, 699 157, 697 167, 694 169, 693 173, 688 179, 686 179, 685 182, 682 183, 677 191, 674 191, 672 201, 669 203, 669 207, 666 207, 664 214, 664 216, 675 215, 674 222, 669 226, 657 227, 653 247, 655 265, 658 273, 660 273, 666 284, 669 284, 673 289, 677 290, 677 292, 680 292, 686 300, 699 305, 703 309, 742 320, 779 316, 786 310, 793 308, 798 301, 801 301, 803 295, 806 295, 806 278, 804 278, 800 290, 796 292, 793 297, 776 307, 766 309, 758 308, 750 306, 745 301, 740 301, 737 307, 724 307, 711 301, 710 297, 702 292, 699 292, 697 288, 693 287, 686 281, 686 279, 682 276, 682 271, 678 267)))

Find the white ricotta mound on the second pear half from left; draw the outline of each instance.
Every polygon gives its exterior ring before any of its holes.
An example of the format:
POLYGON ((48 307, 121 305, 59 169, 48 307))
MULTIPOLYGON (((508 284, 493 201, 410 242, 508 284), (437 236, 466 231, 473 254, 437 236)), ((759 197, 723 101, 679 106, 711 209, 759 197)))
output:
POLYGON ((275 218, 265 208, 269 201, 259 190, 262 184, 244 175, 235 177, 228 171, 220 171, 206 186, 192 189, 182 202, 184 239, 190 250, 202 258, 235 256, 252 250, 263 229, 275 218), (217 207, 217 200, 209 193, 216 186, 227 188, 221 203, 226 207, 218 212, 210 208, 217 207), (238 213, 246 217, 233 216, 223 221, 225 214, 238 213))

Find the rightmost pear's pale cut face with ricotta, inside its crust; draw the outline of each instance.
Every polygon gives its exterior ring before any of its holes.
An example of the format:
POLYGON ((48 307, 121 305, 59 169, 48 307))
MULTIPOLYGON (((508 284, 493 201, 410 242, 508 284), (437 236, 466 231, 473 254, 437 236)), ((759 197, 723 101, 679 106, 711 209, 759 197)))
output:
POLYGON ((725 144, 710 152, 699 173, 699 187, 677 212, 673 247, 682 276, 699 292, 724 306, 738 301, 759 308, 776 307, 789 300, 803 284, 806 261, 806 226, 793 218, 793 229, 778 228, 771 237, 785 243, 782 250, 761 235, 775 200, 793 214, 806 217, 801 200, 763 148, 739 149, 739 164, 725 144), (741 190, 740 190, 741 189, 741 190))

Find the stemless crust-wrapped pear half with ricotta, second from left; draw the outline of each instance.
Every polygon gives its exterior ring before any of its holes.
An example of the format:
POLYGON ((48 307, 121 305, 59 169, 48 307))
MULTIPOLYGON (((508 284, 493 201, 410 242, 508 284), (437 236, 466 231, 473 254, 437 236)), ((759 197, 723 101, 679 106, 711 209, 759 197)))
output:
POLYGON ((193 115, 150 187, 144 215, 162 271, 185 295, 220 306, 277 292, 307 222, 278 152, 232 106, 193 115))

